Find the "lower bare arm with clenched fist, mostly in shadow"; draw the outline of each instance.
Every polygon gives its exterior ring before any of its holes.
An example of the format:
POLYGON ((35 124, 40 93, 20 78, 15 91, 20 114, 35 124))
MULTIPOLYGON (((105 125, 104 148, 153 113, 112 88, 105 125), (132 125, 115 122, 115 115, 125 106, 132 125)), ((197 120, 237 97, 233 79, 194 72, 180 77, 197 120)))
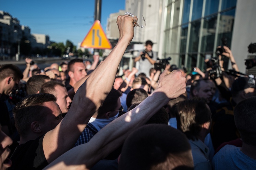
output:
POLYGON ((45 169, 90 169, 124 142, 126 137, 145 124, 170 99, 185 93, 185 77, 181 72, 164 71, 158 88, 139 106, 102 128, 88 143, 66 152, 45 169))

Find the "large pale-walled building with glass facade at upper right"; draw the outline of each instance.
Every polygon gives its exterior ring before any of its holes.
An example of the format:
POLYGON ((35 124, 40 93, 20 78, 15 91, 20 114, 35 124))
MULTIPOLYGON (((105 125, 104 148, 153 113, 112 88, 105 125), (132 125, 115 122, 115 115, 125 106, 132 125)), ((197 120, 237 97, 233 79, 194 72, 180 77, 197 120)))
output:
POLYGON ((133 42, 152 40, 159 58, 171 56, 171 64, 188 71, 204 69, 205 57, 215 57, 226 37, 240 71, 251 73, 254 68, 246 71, 244 60, 255 56, 247 52, 256 42, 255 6, 255 0, 126 0, 126 11, 138 16, 140 25, 142 15, 146 21, 146 27, 134 29, 133 42))

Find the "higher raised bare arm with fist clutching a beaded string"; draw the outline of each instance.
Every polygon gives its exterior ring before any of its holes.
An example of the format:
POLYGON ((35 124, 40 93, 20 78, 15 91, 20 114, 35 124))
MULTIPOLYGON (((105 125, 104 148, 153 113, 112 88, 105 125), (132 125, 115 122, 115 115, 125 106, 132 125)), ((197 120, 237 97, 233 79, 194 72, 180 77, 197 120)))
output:
MULTIPOLYGON (((137 19, 136 16, 134 18, 137 19)), ((65 118, 55 129, 46 133, 43 150, 48 163, 74 146, 89 119, 112 89, 119 62, 134 35, 132 21, 133 17, 118 16, 118 43, 77 90, 65 118)))

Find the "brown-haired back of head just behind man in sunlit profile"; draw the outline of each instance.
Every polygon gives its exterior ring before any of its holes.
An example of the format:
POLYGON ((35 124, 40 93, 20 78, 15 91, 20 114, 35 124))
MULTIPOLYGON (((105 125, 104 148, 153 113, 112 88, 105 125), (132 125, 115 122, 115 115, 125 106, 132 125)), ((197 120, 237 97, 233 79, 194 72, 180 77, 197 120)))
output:
POLYGON ((45 75, 34 75, 32 77, 30 77, 27 81, 27 94, 31 95, 31 94, 36 94, 38 91, 41 90, 42 85, 46 82, 46 81, 51 80, 48 76, 45 75))

